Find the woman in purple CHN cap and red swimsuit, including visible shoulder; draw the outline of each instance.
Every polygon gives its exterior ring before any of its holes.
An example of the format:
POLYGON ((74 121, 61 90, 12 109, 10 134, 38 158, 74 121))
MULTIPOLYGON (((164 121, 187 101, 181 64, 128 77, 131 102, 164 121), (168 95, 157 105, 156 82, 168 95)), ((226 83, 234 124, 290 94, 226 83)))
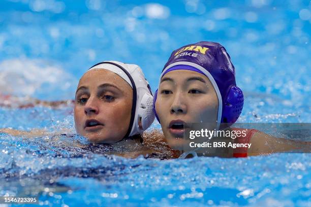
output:
POLYGON ((243 101, 243 93, 235 82, 235 68, 226 49, 219 43, 198 42, 172 52, 162 71, 153 106, 166 142, 171 148, 183 152, 181 158, 189 154, 208 155, 208 148, 200 153, 197 150, 200 145, 183 139, 193 123, 201 123, 209 131, 226 129, 239 134, 235 139, 217 136, 217 140, 224 141, 224 148, 238 146, 217 156, 246 157, 301 149, 301 146, 293 145, 293 141, 282 139, 280 142, 281 139, 256 129, 230 128, 241 114, 243 101), (185 151, 185 146, 191 146, 193 150, 185 151))

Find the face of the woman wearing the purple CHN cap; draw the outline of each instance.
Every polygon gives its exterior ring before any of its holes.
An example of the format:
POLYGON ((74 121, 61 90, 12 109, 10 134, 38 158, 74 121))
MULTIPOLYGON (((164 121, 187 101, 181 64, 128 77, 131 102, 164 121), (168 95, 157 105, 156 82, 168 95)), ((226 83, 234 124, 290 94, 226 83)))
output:
POLYGON ((155 110, 170 147, 182 150, 184 129, 191 123, 216 127, 218 98, 209 79, 197 72, 176 70, 165 74, 160 83, 155 110))

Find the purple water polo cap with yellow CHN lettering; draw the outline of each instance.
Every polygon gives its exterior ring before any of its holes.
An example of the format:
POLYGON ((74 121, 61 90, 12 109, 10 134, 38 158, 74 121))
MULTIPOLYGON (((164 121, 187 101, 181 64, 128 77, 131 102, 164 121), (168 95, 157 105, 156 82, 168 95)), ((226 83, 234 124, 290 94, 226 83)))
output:
MULTIPOLYGON (((202 41, 174 50, 162 70, 160 80, 174 70, 196 71, 209 78, 219 99, 217 128, 220 123, 234 123, 238 119, 244 97, 236 86, 235 68, 230 56, 221 44, 202 41)), ((156 98, 157 94, 154 95, 154 103, 156 98)))

